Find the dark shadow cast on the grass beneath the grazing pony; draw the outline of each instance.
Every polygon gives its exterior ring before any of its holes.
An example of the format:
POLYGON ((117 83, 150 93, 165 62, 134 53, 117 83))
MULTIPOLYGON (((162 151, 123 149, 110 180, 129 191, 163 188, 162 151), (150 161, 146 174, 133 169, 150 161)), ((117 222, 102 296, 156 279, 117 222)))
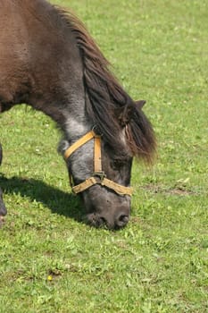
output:
POLYGON ((53 186, 47 185, 46 182, 21 177, 6 178, 0 176, 0 186, 6 194, 18 194, 21 197, 27 197, 31 202, 37 201, 42 203, 53 213, 83 222, 84 209, 79 197, 58 190, 53 186))

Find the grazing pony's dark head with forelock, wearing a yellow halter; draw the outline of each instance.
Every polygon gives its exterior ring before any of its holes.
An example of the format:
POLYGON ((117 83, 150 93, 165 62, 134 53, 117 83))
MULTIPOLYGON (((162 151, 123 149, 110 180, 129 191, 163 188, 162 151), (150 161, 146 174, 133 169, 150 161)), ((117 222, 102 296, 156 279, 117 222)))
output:
POLYGON ((151 140, 154 144, 152 128, 141 111, 144 103, 116 110, 120 131, 114 140, 107 140, 102 128, 96 127, 65 146, 72 190, 81 195, 88 224, 118 229, 129 222, 133 157, 150 161, 153 152, 149 148, 151 140))

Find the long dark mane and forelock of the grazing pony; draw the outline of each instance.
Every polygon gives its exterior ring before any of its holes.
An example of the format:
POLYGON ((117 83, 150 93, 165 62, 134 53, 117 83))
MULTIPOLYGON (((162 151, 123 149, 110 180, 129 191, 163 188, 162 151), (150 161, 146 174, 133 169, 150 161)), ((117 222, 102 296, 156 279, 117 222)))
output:
POLYGON ((155 140, 146 115, 109 70, 109 62, 85 26, 73 14, 57 8, 76 38, 84 64, 87 114, 113 148, 124 148, 121 129, 125 127, 129 148, 136 157, 151 161, 155 140))

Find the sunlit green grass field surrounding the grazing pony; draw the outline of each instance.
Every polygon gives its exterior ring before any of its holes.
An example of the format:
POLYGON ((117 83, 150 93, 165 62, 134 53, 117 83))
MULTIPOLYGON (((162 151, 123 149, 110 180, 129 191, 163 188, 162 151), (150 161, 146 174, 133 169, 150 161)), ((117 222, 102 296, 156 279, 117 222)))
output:
POLYGON ((158 157, 137 162, 129 225, 79 223, 60 138, 44 114, 0 116, 8 208, 0 230, 0 312, 208 311, 208 4, 53 1, 87 24, 134 98, 145 98, 158 157))

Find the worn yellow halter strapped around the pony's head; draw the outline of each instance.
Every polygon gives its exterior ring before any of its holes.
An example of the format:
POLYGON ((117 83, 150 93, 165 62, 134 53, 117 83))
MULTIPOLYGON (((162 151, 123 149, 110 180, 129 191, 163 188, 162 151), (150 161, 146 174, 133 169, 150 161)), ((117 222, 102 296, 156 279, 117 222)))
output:
POLYGON ((89 187, 99 184, 105 186, 121 196, 131 196, 132 188, 125 187, 119 183, 112 182, 106 178, 104 171, 102 170, 102 157, 101 157, 101 137, 96 135, 94 131, 87 132, 86 135, 77 140, 74 144, 71 145, 64 153, 64 158, 67 161, 71 157, 72 153, 75 152, 78 148, 85 145, 87 141, 94 139, 94 173, 91 177, 87 178, 84 182, 79 183, 79 185, 74 186, 72 183, 71 173, 70 173, 70 182, 71 190, 74 193, 79 193, 84 190, 87 190, 89 187))

